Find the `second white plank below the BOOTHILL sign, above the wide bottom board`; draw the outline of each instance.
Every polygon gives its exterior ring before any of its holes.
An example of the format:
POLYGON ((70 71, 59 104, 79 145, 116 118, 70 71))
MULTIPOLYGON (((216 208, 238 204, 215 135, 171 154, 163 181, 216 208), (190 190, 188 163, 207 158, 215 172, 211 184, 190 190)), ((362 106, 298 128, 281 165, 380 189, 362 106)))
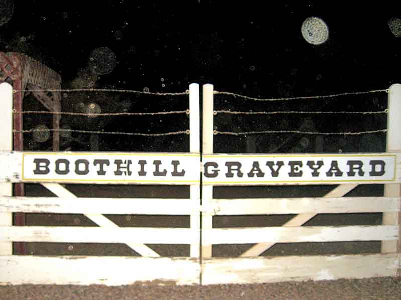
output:
POLYGON ((138 227, 0 227, 0 241, 190 244, 198 242, 190 228, 138 227))

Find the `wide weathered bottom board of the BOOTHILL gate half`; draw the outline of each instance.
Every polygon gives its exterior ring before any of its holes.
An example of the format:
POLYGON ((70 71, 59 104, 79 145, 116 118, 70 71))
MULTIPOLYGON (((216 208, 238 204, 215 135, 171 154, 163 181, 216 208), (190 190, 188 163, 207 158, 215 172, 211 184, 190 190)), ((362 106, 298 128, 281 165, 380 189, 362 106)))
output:
POLYGON ((0 256, 0 285, 198 284, 194 258, 0 256))

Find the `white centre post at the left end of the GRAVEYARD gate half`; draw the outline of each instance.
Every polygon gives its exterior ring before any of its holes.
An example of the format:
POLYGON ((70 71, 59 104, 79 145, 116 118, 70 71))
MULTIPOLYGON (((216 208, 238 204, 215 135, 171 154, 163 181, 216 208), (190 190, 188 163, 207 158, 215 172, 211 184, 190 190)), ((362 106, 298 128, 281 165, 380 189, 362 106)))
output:
MULTIPOLYGON (((202 87, 202 154, 213 153, 213 85, 202 87)), ((209 206, 213 198, 213 185, 202 185, 202 206, 209 206)), ((208 212, 202 212, 202 230, 211 229, 213 217, 208 212)), ((202 234, 202 233, 201 233, 202 234)), ((202 234, 202 258, 212 257, 212 245, 204 243, 202 234)))

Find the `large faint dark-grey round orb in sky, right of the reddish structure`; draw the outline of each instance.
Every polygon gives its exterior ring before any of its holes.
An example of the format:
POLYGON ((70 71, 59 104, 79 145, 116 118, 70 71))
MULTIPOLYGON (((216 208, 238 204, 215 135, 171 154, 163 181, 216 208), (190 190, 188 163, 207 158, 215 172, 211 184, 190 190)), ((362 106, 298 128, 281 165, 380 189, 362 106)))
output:
POLYGON ((116 64, 116 54, 108 47, 94 49, 89 55, 89 68, 96 75, 110 74, 116 64))

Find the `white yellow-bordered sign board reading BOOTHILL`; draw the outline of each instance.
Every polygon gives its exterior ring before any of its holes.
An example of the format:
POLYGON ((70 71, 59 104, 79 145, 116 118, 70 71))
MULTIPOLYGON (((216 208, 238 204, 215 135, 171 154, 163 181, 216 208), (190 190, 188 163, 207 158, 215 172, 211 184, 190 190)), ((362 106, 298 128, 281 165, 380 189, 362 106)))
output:
POLYGON ((199 165, 191 153, 23 152, 21 179, 185 185, 199 183, 199 165))

